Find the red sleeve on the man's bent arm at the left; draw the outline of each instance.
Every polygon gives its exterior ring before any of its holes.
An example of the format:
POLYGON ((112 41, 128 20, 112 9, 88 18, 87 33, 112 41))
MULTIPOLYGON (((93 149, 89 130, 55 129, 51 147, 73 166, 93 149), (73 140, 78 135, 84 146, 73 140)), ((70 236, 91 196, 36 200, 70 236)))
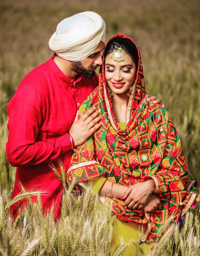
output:
POLYGON ((12 166, 37 165, 56 160, 61 154, 71 150, 69 133, 36 141, 44 118, 44 106, 43 97, 33 85, 18 88, 9 102, 9 138, 6 152, 12 166))

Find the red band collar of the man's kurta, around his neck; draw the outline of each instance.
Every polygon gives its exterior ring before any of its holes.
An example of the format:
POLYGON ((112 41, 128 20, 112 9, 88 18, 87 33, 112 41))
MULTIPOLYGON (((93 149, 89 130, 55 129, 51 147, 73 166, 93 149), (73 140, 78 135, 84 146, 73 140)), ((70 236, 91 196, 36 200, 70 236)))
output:
POLYGON ((73 86, 74 81, 79 82, 81 80, 81 76, 78 75, 78 77, 72 79, 68 78, 61 70, 60 68, 56 65, 54 62, 53 58, 55 57, 55 54, 52 55, 52 57, 49 59, 49 66, 53 73, 58 76, 62 81, 67 82, 70 86, 73 86))

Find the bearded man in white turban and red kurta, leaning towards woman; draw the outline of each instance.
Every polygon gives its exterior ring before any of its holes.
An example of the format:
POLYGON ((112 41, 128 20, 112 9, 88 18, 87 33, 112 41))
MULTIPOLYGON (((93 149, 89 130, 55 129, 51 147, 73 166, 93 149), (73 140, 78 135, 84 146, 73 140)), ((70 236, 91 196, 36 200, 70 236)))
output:
MULTIPOLYGON (((105 22, 95 12, 82 12, 61 21, 49 41, 55 54, 22 80, 9 102, 7 159, 17 166, 13 197, 39 189, 43 209, 54 203, 58 216, 63 186, 49 167, 65 171, 72 148, 85 142, 101 126, 99 111, 92 109, 77 121, 79 106, 98 85, 95 69, 102 64, 105 22)), ((160 101, 158 101, 160 102, 160 101)), ((12 206, 16 215, 21 200, 12 206)))

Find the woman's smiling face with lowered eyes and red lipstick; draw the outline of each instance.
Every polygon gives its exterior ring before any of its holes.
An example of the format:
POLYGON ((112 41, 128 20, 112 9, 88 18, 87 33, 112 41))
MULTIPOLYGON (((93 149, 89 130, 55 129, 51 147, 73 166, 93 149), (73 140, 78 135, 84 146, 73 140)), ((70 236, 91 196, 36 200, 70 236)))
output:
POLYGON ((110 89, 115 94, 127 94, 135 78, 135 63, 132 58, 125 53, 124 62, 114 62, 110 54, 105 59, 105 78, 110 89))

